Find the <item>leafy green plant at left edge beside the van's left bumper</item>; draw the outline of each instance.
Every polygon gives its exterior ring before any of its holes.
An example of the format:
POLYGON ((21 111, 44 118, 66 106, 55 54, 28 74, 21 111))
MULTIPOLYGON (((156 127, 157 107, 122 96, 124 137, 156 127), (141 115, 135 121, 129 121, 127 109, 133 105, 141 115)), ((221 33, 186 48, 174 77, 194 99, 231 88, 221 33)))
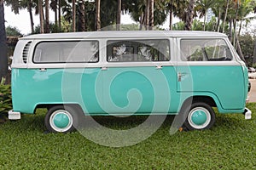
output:
POLYGON ((11 87, 4 82, 4 79, 0 82, 0 116, 12 109, 11 87))

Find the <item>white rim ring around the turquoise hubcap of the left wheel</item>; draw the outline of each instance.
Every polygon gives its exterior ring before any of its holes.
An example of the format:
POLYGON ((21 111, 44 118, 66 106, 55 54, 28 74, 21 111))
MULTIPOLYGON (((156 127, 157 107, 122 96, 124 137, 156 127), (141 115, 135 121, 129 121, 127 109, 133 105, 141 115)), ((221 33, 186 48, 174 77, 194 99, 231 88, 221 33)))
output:
POLYGON ((56 132, 67 132, 73 125, 73 116, 65 110, 58 110, 55 111, 49 116, 49 125, 52 127, 56 132), (56 116, 66 116, 68 119, 67 126, 65 127, 58 127, 55 125, 56 116))

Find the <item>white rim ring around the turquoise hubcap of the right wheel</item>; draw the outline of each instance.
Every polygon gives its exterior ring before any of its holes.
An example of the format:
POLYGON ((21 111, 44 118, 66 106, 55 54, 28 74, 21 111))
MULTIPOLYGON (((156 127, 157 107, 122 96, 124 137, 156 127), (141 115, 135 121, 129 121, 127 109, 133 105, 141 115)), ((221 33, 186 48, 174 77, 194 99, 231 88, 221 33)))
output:
POLYGON ((211 113, 204 107, 195 107, 194 109, 189 111, 188 122, 189 122, 189 125, 195 129, 203 129, 210 124, 211 113), (197 115, 197 113, 199 113, 199 112, 201 114, 205 114, 205 116, 206 116, 206 121, 203 122, 202 124, 197 124, 193 121, 193 119, 195 119, 195 117, 193 117, 193 116, 197 115))

